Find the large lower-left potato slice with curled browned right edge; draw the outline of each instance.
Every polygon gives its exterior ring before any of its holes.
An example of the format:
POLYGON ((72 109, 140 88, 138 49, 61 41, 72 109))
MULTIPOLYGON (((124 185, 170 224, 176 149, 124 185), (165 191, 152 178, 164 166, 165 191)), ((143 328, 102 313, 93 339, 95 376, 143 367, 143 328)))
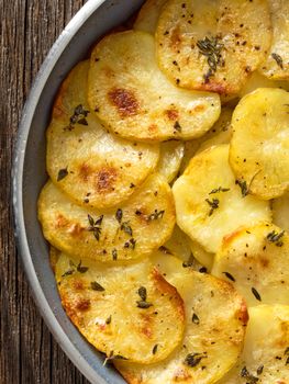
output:
POLYGON ((62 253, 56 280, 67 315, 109 359, 158 362, 181 341, 184 302, 148 260, 108 266, 62 253))

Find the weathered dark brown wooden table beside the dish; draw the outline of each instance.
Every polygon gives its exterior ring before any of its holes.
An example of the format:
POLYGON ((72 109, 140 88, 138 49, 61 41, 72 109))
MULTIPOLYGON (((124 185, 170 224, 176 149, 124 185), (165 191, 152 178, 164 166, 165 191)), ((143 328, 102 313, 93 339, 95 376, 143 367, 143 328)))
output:
POLYGON ((23 103, 56 37, 85 0, 0 0, 0 383, 88 381, 54 341, 31 297, 13 239, 10 172, 23 103))

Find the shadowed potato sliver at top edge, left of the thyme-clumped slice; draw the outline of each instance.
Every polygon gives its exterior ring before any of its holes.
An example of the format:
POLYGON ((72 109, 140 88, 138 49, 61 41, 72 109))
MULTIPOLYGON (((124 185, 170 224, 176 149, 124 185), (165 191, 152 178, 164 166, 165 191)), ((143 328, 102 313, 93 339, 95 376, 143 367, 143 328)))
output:
POLYGON ((148 32, 154 35, 162 8, 166 2, 167 0, 147 0, 137 14, 133 25, 134 30, 148 32))

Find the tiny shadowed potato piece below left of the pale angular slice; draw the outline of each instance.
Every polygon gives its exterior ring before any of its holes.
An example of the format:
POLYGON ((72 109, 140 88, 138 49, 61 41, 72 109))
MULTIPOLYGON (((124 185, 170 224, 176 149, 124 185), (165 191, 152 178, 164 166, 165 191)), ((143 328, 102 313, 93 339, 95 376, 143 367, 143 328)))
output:
POLYGON ((177 225, 174 228, 171 237, 162 248, 164 252, 171 253, 182 261, 188 261, 191 257, 189 238, 177 225))

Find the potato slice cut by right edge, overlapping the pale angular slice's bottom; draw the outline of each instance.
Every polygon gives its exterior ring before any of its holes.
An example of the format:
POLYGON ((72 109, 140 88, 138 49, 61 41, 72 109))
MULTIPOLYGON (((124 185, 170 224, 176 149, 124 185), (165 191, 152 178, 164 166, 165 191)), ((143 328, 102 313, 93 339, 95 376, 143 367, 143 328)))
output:
POLYGON ((226 236, 211 273, 226 279, 248 306, 289 305, 289 236, 268 223, 226 236))

